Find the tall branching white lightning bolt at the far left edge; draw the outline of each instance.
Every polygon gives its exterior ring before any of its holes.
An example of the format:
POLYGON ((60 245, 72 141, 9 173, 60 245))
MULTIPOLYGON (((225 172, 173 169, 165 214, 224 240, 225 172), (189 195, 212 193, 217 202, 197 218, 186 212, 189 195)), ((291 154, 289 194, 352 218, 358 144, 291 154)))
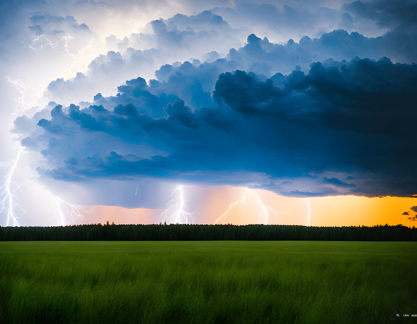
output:
POLYGON ((25 211, 20 207, 19 199, 16 194, 18 190, 20 190, 21 184, 15 180, 13 180, 13 176, 18 171, 18 160, 20 155, 23 152, 24 147, 20 147, 19 153, 16 157, 16 159, 10 163, 1 163, 1 168, 8 167, 10 164, 12 164, 12 168, 8 174, 5 175, 5 181, 3 182, 3 185, 0 187, 0 190, 2 192, 0 193, 0 197, 3 197, 1 199, 1 210, 0 214, 3 212, 7 212, 6 217, 6 226, 9 226, 10 219, 13 219, 13 226, 19 226, 18 223, 18 215, 23 214, 25 211))

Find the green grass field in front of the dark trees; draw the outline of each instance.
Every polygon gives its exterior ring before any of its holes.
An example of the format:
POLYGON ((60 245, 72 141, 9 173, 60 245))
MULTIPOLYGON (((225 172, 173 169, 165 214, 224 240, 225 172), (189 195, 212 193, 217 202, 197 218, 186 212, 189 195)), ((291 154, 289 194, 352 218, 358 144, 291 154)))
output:
POLYGON ((0 242, 0 257, 1 323, 389 323, 417 313, 417 242, 0 242))

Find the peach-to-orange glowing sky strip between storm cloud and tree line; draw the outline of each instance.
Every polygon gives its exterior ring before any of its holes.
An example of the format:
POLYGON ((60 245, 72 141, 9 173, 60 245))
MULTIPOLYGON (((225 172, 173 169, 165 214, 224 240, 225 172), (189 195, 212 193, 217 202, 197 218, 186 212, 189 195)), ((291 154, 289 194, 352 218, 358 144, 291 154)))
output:
MULTIPOLYGON (((246 188, 241 187, 194 187, 183 186, 184 194, 195 214, 197 224, 214 224, 229 205, 242 196, 246 188)), ((264 205, 286 214, 270 213, 268 224, 307 225, 307 199, 283 197, 267 190, 253 189, 264 205)), ((415 212, 410 207, 417 205, 417 199, 407 197, 368 198, 358 196, 329 196, 309 198, 311 207, 311 226, 372 226, 376 224, 416 226, 417 222, 408 220, 415 212), (409 212, 409 216, 402 215, 409 212)), ((84 223, 105 223, 107 220, 116 224, 156 224, 162 209, 126 209, 117 206, 95 206, 85 215, 84 223)), ((262 210, 256 202, 246 206, 236 206, 219 224, 255 224, 262 210)), ((264 218, 263 218, 264 219, 264 218)))

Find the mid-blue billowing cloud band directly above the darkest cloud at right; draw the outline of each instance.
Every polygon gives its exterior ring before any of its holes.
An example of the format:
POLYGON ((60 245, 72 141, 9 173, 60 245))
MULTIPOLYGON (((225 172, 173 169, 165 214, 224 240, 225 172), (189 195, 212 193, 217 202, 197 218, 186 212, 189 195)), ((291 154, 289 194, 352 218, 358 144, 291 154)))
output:
POLYGON ((320 38, 304 36, 298 43, 289 40, 282 45, 249 35, 247 44, 239 50, 230 50, 227 57, 246 66, 252 65, 253 72, 266 75, 272 72, 287 73, 288 68, 292 69, 296 65, 306 67, 313 61, 327 60, 329 57, 334 60, 351 60, 356 56, 372 59, 387 56, 394 57, 394 62, 412 63, 417 57, 415 40, 415 35, 401 32, 388 32, 381 37, 368 38, 357 32, 349 34, 345 30, 334 30, 320 38), (396 46, 399 43, 401 46, 396 46))

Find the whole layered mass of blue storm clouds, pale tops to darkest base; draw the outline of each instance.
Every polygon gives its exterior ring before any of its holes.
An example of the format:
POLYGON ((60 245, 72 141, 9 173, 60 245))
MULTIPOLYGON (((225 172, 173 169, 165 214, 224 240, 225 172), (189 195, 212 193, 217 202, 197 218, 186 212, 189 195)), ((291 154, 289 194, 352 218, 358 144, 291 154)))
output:
MULTIPOLYGON (((46 94, 62 105, 18 117, 13 129, 43 155, 39 174, 230 184, 293 197, 416 193, 409 127, 416 66, 392 64, 417 57, 412 3, 354 2, 340 10, 235 3, 153 20, 123 40, 111 35, 106 42, 120 52, 51 82, 46 94), (374 28, 367 33, 367 26, 374 28), (281 36, 287 30, 294 37, 281 36), (138 77, 157 66, 155 80, 138 77), (101 94, 127 79, 116 96, 101 94), (92 102, 69 105, 90 100, 92 91, 92 102)), ((36 35, 90 33, 65 13, 28 17, 36 35)))

